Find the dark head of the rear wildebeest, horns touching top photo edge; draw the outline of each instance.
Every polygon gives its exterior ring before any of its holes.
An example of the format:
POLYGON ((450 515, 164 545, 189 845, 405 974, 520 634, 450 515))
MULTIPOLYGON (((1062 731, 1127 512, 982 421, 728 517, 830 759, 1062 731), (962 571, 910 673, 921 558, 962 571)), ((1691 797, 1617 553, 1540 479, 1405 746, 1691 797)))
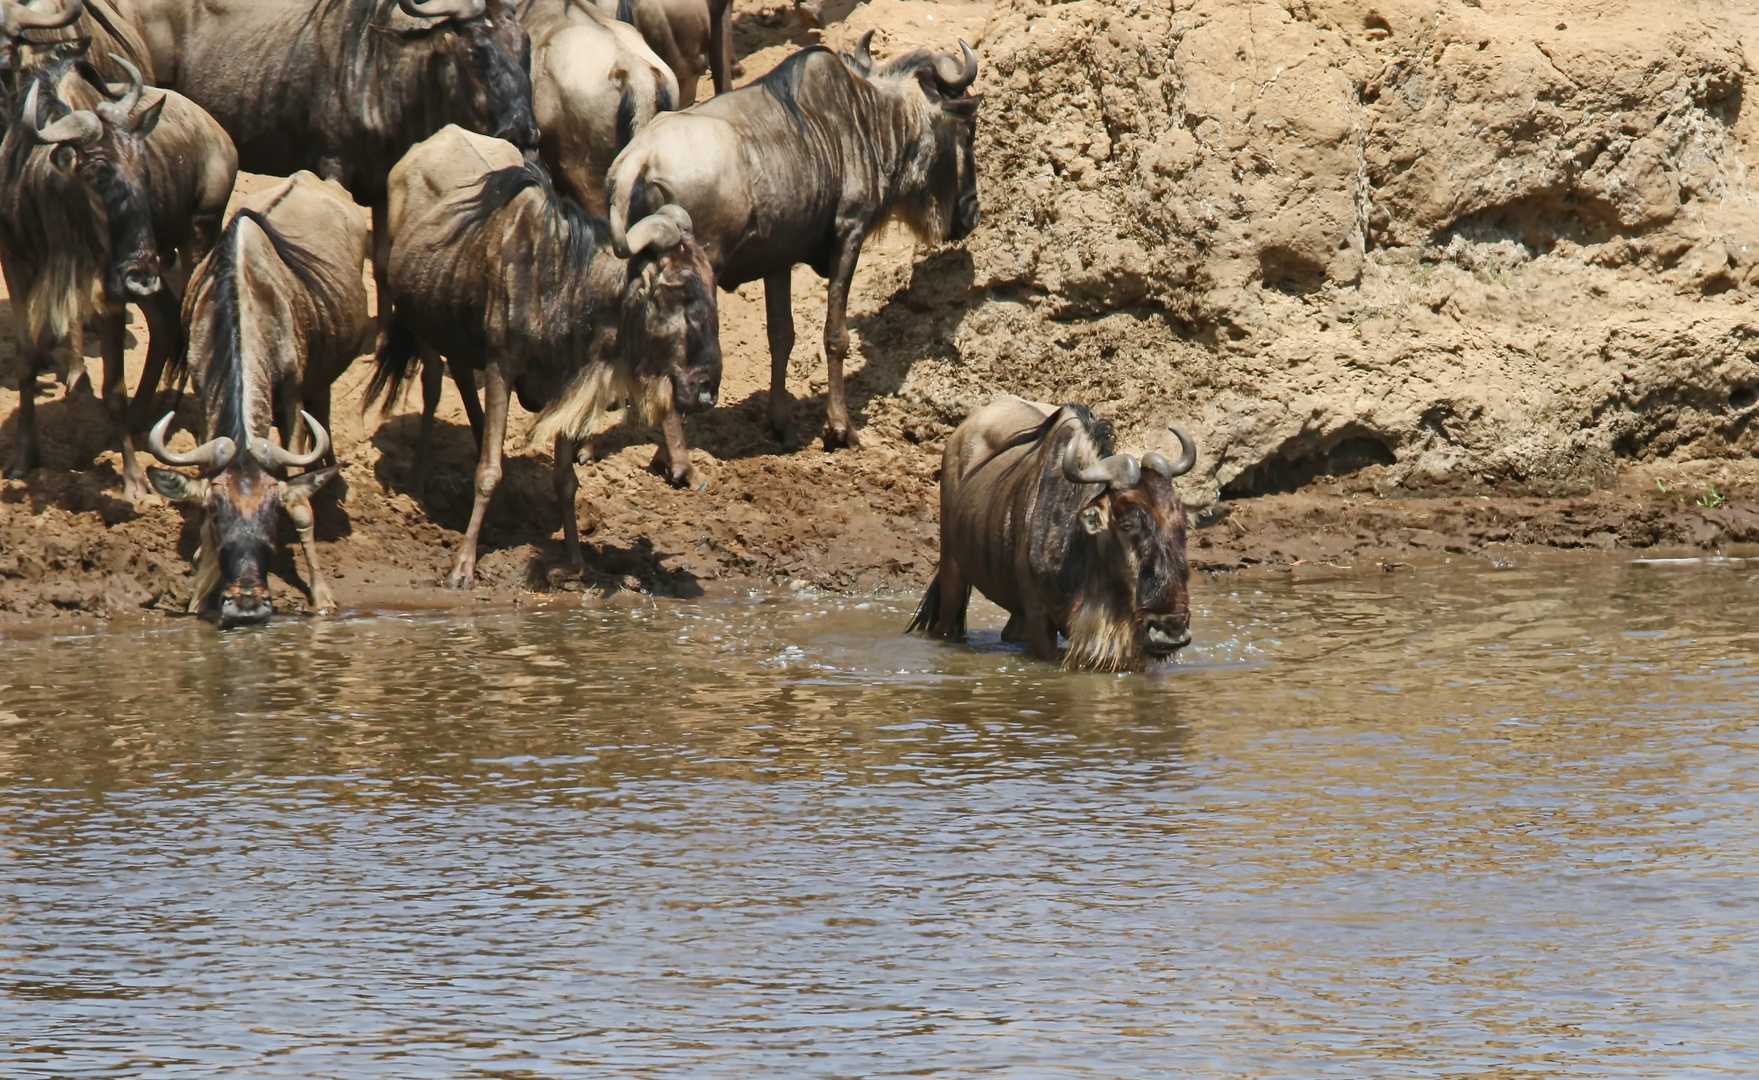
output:
POLYGON ((398 0, 419 19, 398 30, 408 42, 426 42, 436 63, 436 99, 452 102, 440 123, 507 139, 524 151, 538 146, 531 106, 531 37, 505 0, 398 0))

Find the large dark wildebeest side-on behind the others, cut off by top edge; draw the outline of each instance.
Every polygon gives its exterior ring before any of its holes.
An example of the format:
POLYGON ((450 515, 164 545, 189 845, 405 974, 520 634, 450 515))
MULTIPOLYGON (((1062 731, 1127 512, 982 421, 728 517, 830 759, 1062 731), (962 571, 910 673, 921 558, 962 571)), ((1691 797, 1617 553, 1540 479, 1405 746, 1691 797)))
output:
MULTIPOLYGON (((213 113, 239 165, 311 169, 373 208, 385 292, 385 178, 447 123, 536 150, 531 42, 508 0, 127 0, 160 86, 213 113)), ((382 318, 382 322, 385 322, 382 318)))

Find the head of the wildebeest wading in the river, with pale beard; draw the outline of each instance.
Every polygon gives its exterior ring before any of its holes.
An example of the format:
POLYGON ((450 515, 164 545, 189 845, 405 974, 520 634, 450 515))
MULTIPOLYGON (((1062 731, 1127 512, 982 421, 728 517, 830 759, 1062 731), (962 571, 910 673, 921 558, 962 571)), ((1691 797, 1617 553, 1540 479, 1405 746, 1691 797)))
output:
MULTIPOLYGON (((1191 644, 1191 566, 1186 561, 1186 508, 1173 487, 1196 464, 1196 443, 1179 427, 1182 454, 1166 461, 1110 454, 1082 464, 1099 440, 1080 431, 1062 452, 1062 478, 1101 484, 1078 512, 1085 554, 1069 619, 1068 667, 1119 668, 1142 656, 1168 656, 1191 644)), ((1101 436, 1103 438, 1103 436, 1101 436)))

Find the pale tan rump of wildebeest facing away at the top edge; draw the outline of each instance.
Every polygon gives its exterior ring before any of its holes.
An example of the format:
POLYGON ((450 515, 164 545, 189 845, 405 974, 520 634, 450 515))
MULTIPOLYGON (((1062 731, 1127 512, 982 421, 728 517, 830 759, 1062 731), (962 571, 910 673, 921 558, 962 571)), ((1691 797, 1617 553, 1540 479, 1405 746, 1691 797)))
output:
POLYGON ((677 107, 677 79, 642 35, 586 0, 524 0, 538 150, 556 188, 605 213, 605 171, 637 130, 677 107))

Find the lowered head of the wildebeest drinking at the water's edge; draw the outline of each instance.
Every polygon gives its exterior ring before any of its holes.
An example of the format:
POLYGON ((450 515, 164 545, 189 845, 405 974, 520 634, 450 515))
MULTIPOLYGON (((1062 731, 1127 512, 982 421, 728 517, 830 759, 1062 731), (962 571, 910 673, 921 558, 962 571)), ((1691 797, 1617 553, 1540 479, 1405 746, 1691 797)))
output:
POLYGON ((165 468, 148 468, 153 489, 174 503, 202 508, 202 545, 195 552, 195 595, 190 610, 209 610, 216 623, 246 626, 267 623, 269 566, 274 563, 274 512, 310 501, 341 466, 283 478, 288 468, 308 468, 329 452, 329 433, 311 413, 301 412, 315 445, 310 454, 292 454, 264 438, 252 438, 239 452, 227 436, 211 438, 188 454, 165 449, 172 413, 153 427, 148 449, 165 464, 195 466, 197 477, 165 468))

